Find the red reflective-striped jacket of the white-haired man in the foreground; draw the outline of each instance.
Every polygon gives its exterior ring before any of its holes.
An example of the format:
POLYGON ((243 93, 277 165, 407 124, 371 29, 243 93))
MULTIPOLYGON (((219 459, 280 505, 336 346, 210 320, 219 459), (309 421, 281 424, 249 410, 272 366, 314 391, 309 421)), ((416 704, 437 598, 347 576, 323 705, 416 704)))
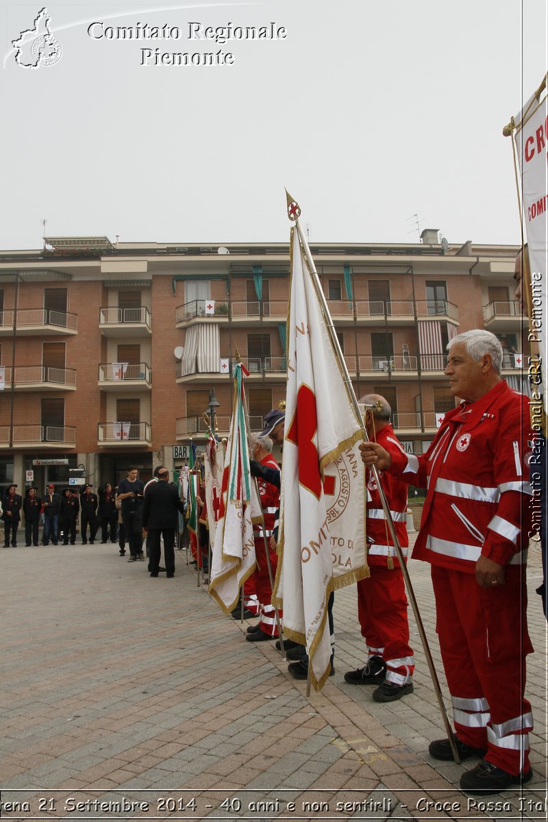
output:
POLYGON ((480 555, 525 563, 531 440, 527 397, 500 381, 446 413, 426 454, 396 460, 391 472, 427 488, 414 559, 471 574, 480 555))

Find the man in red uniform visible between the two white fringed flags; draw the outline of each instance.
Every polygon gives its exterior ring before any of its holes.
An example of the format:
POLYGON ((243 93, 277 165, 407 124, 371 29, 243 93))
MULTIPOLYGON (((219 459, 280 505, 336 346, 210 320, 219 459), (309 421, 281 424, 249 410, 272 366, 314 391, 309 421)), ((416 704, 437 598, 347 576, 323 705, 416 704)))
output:
MULTIPOLYGON (((265 468, 279 472, 279 464, 270 453, 272 440, 269 436, 251 434, 251 459, 255 460, 265 468)), ((272 640, 278 636, 278 626, 274 606, 272 604, 272 585, 270 584, 269 566, 266 560, 265 542, 269 546, 270 538, 274 535, 274 520, 279 509, 279 487, 267 483, 265 479, 258 478, 260 504, 263 510, 265 528, 262 524, 253 526, 253 536, 255 541, 256 571, 253 575, 255 580, 256 595, 260 602, 260 620, 258 624, 248 630, 246 640, 248 642, 262 642, 272 640)), ((278 567, 278 554, 269 546, 269 560, 272 571, 272 580, 276 576, 278 567)), ((279 613, 281 617, 281 614, 279 613)))

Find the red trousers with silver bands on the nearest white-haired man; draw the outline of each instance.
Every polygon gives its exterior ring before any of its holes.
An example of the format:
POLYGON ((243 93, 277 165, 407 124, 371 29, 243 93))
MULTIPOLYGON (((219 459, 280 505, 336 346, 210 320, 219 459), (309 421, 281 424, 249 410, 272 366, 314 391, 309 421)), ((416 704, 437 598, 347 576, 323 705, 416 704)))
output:
POLYGON ((458 738, 487 748, 509 774, 529 769, 531 704, 524 698, 527 634, 525 569, 506 567, 506 583, 481 588, 474 574, 432 566, 441 658, 458 738))

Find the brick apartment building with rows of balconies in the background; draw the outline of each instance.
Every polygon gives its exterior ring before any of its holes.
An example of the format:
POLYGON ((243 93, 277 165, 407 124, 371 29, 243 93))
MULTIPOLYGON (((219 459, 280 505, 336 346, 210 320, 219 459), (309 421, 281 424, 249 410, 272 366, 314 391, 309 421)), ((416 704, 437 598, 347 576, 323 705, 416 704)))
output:
MULTIPOLYGON (((389 399, 415 453, 454 406, 443 372, 459 332, 493 331, 504 378, 527 386, 518 248, 421 240, 311 244, 354 390, 389 399)), ((98 487, 130 464, 144 478, 176 467, 191 438, 204 446, 212 400, 228 433, 237 357, 260 430, 285 393, 288 284, 285 243, 50 237, 0 252, 0 486, 64 486, 79 469, 98 487)))

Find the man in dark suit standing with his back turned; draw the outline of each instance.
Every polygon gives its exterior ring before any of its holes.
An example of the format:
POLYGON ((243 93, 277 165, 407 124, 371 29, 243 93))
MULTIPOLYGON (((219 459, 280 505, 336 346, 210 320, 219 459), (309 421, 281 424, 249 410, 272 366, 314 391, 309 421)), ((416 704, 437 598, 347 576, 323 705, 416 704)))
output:
POLYGON ((143 506, 143 527, 149 536, 150 576, 158 576, 160 562, 160 535, 163 537, 163 558, 167 576, 175 574, 175 529, 177 511, 184 513, 177 488, 169 483, 169 471, 161 466, 158 482, 146 488, 143 506))

